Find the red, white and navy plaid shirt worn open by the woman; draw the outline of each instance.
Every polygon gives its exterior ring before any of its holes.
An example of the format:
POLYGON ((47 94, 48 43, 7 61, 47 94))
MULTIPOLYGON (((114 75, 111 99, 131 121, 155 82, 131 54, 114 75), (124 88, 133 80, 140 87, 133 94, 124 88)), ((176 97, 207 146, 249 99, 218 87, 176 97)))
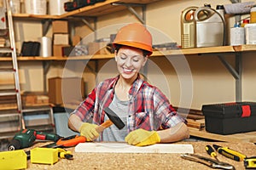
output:
MULTIPOLYGON (((97 125, 104 122, 103 108, 113 100, 114 86, 119 77, 107 79, 99 83, 86 99, 73 111, 83 122, 92 118, 97 125)), ((127 113, 127 128, 131 132, 137 128, 159 130, 175 126, 185 120, 177 115, 169 100, 160 89, 143 81, 139 76, 130 91, 129 111, 127 113)), ((129 133, 128 132, 128 133, 129 133)))

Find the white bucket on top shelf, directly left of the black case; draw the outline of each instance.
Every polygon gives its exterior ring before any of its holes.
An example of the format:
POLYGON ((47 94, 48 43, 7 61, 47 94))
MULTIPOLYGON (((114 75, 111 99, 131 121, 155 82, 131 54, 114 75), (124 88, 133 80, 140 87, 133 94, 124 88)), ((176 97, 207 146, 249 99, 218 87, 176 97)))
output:
POLYGON ((49 14, 61 15, 65 14, 64 3, 69 2, 68 0, 49 0, 49 14))

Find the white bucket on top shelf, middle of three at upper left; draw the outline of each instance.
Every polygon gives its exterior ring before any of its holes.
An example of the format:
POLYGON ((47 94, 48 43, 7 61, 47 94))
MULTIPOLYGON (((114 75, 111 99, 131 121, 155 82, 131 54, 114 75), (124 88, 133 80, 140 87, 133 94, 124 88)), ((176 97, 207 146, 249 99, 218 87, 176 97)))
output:
POLYGON ((46 0, 25 0, 26 14, 46 14, 46 0))

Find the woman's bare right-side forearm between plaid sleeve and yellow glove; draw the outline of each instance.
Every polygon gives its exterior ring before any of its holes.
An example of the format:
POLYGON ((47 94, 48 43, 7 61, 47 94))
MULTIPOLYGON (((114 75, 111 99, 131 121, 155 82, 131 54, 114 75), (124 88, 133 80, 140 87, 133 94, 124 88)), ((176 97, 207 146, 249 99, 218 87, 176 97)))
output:
POLYGON ((183 122, 178 123, 175 127, 157 131, 157 133, 160 136, 160 143, 172 143, 189 138, 189 129, 183 122))

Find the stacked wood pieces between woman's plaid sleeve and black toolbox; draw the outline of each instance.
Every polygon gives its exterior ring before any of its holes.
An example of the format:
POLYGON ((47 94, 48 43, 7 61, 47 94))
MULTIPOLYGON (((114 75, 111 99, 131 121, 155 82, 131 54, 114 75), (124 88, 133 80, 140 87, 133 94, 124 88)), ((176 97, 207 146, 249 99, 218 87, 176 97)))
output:
POLYGON ((202 130, 205 127, 205 116, 203 116, 201 110, 193 110, 187 108, 174 107, 177 113, 183 118, 187 119, 188 127, 194 127, 198 130, 202 130))

